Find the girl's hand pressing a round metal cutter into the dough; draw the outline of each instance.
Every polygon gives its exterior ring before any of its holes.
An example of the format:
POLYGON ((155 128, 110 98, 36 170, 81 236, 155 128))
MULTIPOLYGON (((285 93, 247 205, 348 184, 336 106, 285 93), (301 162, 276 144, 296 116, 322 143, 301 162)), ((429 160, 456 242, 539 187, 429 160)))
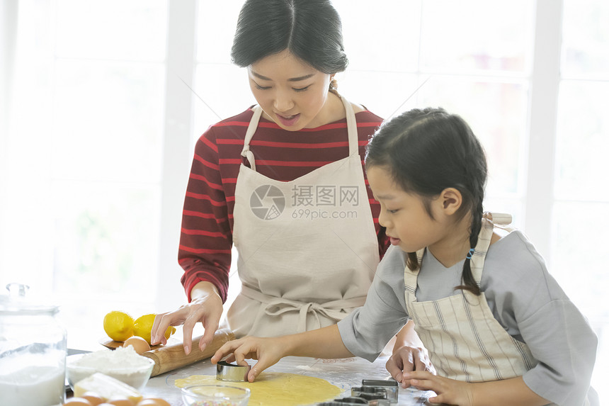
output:
POLYGON ((269 366, 274 365, 287 354, 287 347, 281 338, 258 338, 244 337, 242 339, 227 342, 212 356, 212 363, 218 363, 225 356, 227 362, 237 362, 238 365, 246 366, 246 359, 257 359, 258 362, 251 367, 247 375, 249 382, 254 382, 256 377, 269 366))

